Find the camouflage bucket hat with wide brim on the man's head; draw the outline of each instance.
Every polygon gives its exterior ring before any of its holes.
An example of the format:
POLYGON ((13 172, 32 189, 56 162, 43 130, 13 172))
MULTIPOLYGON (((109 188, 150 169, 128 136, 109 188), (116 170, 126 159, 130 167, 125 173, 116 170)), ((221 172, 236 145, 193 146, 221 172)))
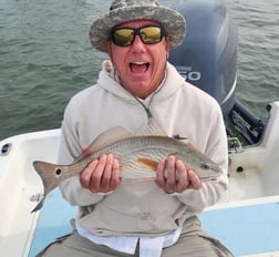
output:
POLYGON ((105 43, 111 30, 131 20, 154 20, 166 31, 170 48, 178 47, 186 33, 184 17, 165 7, 157 0, 114 0, 110 11, 93 22, 90 28, 90 41, 93 48, 105 52, 105 43))

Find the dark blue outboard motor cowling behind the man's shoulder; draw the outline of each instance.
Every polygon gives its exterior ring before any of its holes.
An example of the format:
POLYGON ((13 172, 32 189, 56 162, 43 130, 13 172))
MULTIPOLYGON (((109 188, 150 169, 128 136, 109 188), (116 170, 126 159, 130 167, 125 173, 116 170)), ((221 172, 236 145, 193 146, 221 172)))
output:
POLYGON ((220 0, 182 0, 173 6, 187 23, 169 62, 189 83, 213 95, 228 115, 235 103, 237 27, 220 0))

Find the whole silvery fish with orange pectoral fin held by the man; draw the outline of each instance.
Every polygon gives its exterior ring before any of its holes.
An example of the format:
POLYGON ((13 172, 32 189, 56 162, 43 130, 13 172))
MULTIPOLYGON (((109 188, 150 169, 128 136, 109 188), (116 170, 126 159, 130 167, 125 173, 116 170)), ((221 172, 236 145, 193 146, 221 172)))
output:
POLYGON ((91 154, 82 154, 70 165, 33 162, 33 166, 43 182, 44 194, 32 212, 40 209, 45 196, 63 181, 78 176, 93 160, 107 153, 114 154, 120 161, 123 178, 154 179, 158 162, 168 155, 175 155, 182 160, 187 168, 195 171, 202 181, 215 179, 221 174, 221 169, 216 163, 194 146, 167 136, 153 119, 136 134, 131 134, 122 126, 108 128, 100 134, 89 148, 91 154))

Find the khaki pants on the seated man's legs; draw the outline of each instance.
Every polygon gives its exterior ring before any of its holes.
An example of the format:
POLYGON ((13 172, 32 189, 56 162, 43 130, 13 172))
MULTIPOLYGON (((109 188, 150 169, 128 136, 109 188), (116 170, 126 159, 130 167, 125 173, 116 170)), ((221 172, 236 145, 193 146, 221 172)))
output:
MULTIPOLYGON (((134 255, 123 254, 106 246, 96 245, 81 237, 75 229, 72 234, 58 238, 37 257, 138 257, 138 246, 134 255)), ((230 257, 231 253, 218 240, 205 233, 196 217, 188 219, 177 243, 164 248, 162 257, 230 257)))

